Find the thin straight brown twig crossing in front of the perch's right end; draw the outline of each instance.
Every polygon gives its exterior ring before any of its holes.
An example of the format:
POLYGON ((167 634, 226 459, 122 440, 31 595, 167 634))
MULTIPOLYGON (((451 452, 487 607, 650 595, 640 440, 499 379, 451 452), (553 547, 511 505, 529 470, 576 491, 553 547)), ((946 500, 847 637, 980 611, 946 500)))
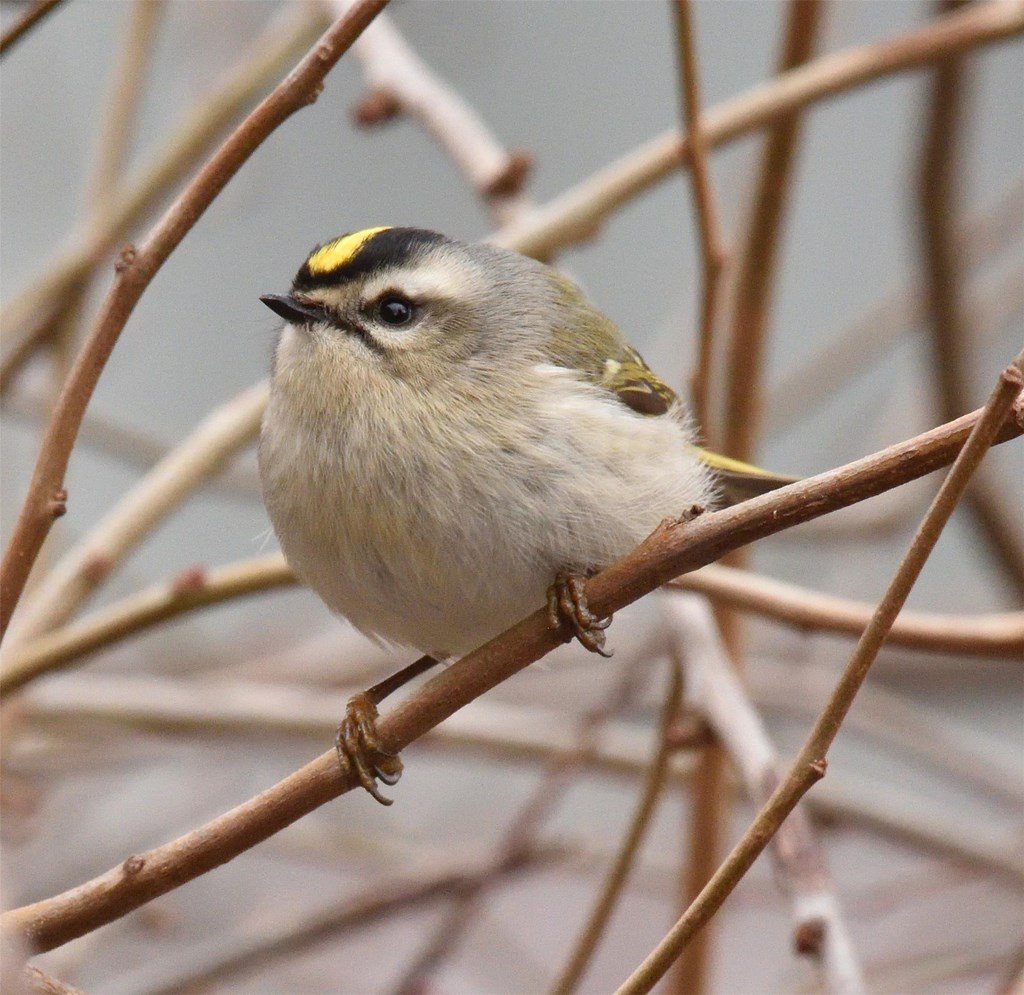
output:
POLYGON ((839 733, 857 691, 896 620, 971 476, 997 437, 1024 387, 1024 353, 999 378, 988 403, 975 422, 952 469, 928 509, 870 623, 857 643, 836 689, 794 760, 785 778, 772 792, 751 827, 733 848, 697 899, 644 962, 618 989, 620 995, 649 992, 672 966, 692 937, 718 911, 750 870, 800 798, 825 772, 825 754, 839 733))

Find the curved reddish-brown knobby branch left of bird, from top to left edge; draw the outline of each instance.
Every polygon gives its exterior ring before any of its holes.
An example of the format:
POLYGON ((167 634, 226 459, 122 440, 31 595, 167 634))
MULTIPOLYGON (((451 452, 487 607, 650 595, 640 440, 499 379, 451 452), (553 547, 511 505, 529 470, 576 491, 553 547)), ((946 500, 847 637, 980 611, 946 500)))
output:
POLYGON ((122 251, 114 286, 100 307, 43 438, 29 493, 0 572, 0 635, 20 598, 40 547, 62 513, 63 478, 85 407, 121 330, 150 282, 214 198, 262 141, 316 98, 324 78, 387 0, 357 0, 207 161, 139 249, 122 251), (57 508, 60 510, 57 511, 57 508))

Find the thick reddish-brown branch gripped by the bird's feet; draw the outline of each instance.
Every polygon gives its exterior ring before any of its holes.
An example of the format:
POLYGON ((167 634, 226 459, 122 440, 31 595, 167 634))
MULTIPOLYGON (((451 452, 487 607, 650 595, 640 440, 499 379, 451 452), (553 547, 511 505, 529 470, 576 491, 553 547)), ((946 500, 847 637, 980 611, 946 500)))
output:
MULTIPOLYGON (((1019 387, 1015 387, 1013 394, 1018 391, 1019 387)), ((1007 407, 1012 402, 1013 395, 1007 407)), ((974 459, 979 447, 979 426, 984 429, 986 441, 989 434, 1005 439, 1021 433, 1021 427, 1008 420, 1005 413, 997 419, 991 409, 974 413, 874 456, 734 508, 687 522, 666 522, 631 554, 587 582, 591 609, 606 617, 666 580, 703 566, 729 550, 829 514, 947 465, 969 435, 973 435, 974 442, 965 452, 974 459)), ((944 487, 943 492, 947 491, 948 487, 944 487)), ((378 724, 382 747, 400 752, 459 708, 550 652, 560 638, 549 625, 547 610, 539 609, 439 673, 384 715, 378 724)), ((841 701, 848 704, 849 697, 850 691, 844 684, 841 701)), ((823 717, 833 734, 836 713, 830 708, 823 717)), ((817 739, 813 745, 817 745, 817 739)), ((798 786, 805 781, 809 784, 818 776, 813 768, 810 772, 806 765, 800 766, 795 777, 783 782, 780 792, 784 793, 764 818, 781 821, 797 801, 796 794, 791 797, 794 781, 798 786)), ((337 753, 331 749, 206 826, 134 855, 70 892, 6 913, 0 917, 0 927, 23 932, 36 949, 52 949, 220 866, 357 783, 350 771, 340 769, 337 753)), ((744 847, 750 847, 750 840, 744 847)), ((749 858, 748 865, 753 862, 756 853, 746 850, 742 853, 749 858)), ((735 861, 728 865, 733 868, 730 873, 735 872, 734 864, 735 861)), ((740 873, 743 871, 745 866, 740 873)))

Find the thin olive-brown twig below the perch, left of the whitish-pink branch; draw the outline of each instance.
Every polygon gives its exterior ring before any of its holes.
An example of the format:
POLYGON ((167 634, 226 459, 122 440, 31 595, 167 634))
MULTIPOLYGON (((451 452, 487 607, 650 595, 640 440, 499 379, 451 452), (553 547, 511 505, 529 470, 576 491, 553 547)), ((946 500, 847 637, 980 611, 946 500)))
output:
POLYGON ((657 750, 650 763, 647 776, 644 779, 636 811, 623 836, 615 854, 615 859, 608 868, 598 893, 597 900, 591 909, 590 916, 580 934, 580 939, 565 962, 557 980, 551 988, 553 995, 570 995, 580 987, 584 972, 590 964, 597 945, 607 927, 608 919, 614 911, 627 878, 633 868, 640 843, 647 832, 651 816, 657 806, 662 790, 665 787, 669 772, 669 759, 673 744, 670 732, 679 715, 682 701, 683 678, 678 662, 669 665, 669 686, 665 693, 665 703, 662 706, 662 718, 657 729, 657 750))

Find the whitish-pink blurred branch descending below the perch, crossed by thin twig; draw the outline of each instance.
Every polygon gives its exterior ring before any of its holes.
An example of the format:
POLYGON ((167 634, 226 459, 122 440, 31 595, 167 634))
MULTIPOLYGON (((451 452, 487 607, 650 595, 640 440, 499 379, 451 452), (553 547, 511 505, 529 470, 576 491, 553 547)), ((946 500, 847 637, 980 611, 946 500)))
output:
MULTIPOLYGON (((707 603, 690 595, 665 598, 663 605, 673 652, 686 664, 687 698, 711 723, 748 795, 764 805, 778 784, 778 752, 736 677, 707 603)), ((823 991, 865 991, 824 853, 803 806, 779 827, 772 855, 776 880, 793 905, 796 951, 814 958, 823 991)))

